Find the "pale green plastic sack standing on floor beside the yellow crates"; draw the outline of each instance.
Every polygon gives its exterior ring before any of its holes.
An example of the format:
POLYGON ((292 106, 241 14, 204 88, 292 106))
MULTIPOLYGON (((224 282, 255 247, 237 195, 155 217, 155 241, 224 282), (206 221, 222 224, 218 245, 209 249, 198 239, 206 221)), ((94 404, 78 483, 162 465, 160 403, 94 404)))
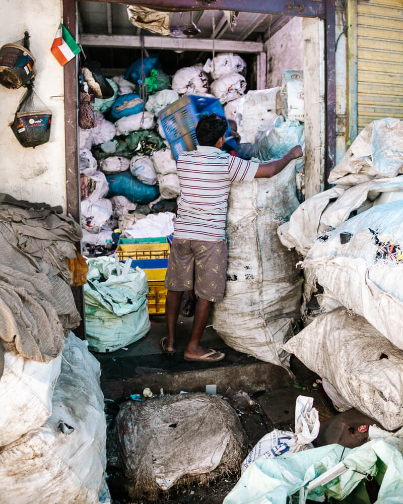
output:
POLYGON ((84 286, 86 334, 89 349, 114 352, 150 330, 147 277, 140 268, 129 268, 112 257, 88 260, 84 286))

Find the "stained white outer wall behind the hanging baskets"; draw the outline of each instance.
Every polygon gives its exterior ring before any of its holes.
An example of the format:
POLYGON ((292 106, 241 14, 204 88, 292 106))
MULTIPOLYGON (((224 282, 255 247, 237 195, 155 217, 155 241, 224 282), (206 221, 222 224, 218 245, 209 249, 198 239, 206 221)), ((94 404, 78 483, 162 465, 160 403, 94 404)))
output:
POLYGON ((0 0, 0 46, 24 37, 36 57, 35 91, 52 111, 50 140, 22 147, 9 124, 24 89, 0 85, 0 192, 18 199, 62 205, 65 210, 63 68, 50 52, 61 20, 60 0, 0 0))

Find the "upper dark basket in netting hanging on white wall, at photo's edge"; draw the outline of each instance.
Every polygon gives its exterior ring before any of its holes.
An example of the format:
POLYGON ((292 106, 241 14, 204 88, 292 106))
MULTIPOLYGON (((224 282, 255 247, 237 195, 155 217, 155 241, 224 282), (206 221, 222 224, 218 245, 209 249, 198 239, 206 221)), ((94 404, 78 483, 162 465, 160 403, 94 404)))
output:
POLYGON ((29 51, 29 34, 12 44, 0 48, 0 84, 18 89, 36 76, 35 57, 29 51))

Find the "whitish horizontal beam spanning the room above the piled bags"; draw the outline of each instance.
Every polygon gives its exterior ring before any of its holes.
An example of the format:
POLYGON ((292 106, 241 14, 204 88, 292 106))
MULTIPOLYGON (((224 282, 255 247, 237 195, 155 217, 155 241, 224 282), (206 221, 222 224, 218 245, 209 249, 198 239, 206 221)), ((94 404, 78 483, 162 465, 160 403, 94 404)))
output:
MULTIPOLYGON (((90 35, 80 34, 80 43, 85 47, 132 47, 142 46, 141 37, 136 35, 90 35)), ((173 38, 144 37, 147 49, 169 49, 174 51, 212 51, 213 39, 210 38, 173 38)), ((216 51, 254 53, 263 50, 261 42, 244 42, 237 40, 215 40, 216 51)))

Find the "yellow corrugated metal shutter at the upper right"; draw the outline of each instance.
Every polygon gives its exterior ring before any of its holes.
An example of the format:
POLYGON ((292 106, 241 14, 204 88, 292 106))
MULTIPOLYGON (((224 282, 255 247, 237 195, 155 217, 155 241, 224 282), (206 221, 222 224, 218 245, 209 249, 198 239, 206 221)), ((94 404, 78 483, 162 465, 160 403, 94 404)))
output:
POLYGON ((403 117, 403 0, 357 2, 357 125, 403 117))

